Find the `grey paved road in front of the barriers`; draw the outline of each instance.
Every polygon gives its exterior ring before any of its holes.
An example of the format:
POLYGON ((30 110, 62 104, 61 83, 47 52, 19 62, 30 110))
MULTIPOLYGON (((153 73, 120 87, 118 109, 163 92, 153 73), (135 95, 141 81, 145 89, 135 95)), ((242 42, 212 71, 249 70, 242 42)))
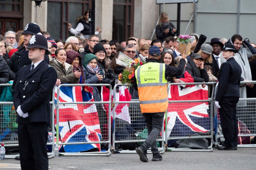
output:
MULTIPOLYGON (((51 169, 255 169, 256 148, 238 148, 237 151, 213 152, 165 152, 163 160, 141 162, 137 154, 112 154, 109 157, 59 157, 49 160, 51 169)), ((7 159, 0 161, 0 169, 7 168, 3 163, 19 161, 7 159), (1 163, 3 166, 1 166, 1 163)), ((15 167, 13 166, 13 169, 15 167)), ((12 169, 9 167, 9 169, 12 169)))

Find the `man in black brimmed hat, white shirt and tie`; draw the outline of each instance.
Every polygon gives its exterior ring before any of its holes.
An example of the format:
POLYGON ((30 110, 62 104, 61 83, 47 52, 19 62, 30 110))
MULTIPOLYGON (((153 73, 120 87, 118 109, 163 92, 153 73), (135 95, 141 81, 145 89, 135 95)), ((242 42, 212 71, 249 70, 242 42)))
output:
POLYGON ((212 74, 214 76, 217 76, 218 72, 220 70, 220 65, 221 65, 220 50, 223 48, 223 44, 220 42, 219 38, 212 38, 211 42, 210 42, 210 45, 213 48, 211 56, 212 56, 212 62, 213 62, 214 68, 213 68, 213 73, 212 74))

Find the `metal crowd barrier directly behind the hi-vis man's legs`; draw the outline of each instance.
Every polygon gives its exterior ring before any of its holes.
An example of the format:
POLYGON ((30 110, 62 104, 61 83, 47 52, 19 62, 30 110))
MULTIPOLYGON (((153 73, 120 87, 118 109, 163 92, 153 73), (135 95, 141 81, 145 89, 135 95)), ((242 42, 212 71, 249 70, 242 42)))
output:
MULTIPOLYGON (((112 150, 115 152, 115 146, 116 145, 120 145, 121 143, 143 143, 145 141, 145 139, 147 137, 143 137, 142 132, 144 131, 144 133, 146 133, 147 136, 147 131, 146 131, 146 123, 144 121, 144 117, 141 113, 141 109, 140 109, 140 101, 139 100, 131 100, 131 101, 115 101, 115 91, 117 89, 117 87, 120 86, 129 86, 128 84, 116 84, 114 86, 114 93, 113 93, 113 135, 112 135, 112 150), (114 107, 117 106, 118 104, 129 104, 129 110, 126 110, 129 112, 130 114, 130 118, 131 118, 131 126, 133 129, 135 129, 136 132, 131 132, 131 134, 129 134, 129 137, 126 137, 125 139, 123 138, 118 138, 117 137, 117 132, 120 134, 125 134, 127 132, 123 132, 120 131, 118 129, 118 127, 122 126, 122 121, 118 121, 116 120, 116 113, 115 113, 115 109, 114 107), (141 135, 140 135, 141 134, 141 135)), ((127 118, 124 118, 127 120, 127 118)), ((162 132, 164 132, 164 124, 162 127, 162 132)), ((161 132, 161 133, 162 133, 161 132)), ((161 135, 158 136, 157 140, 159 142, 160 147, 158 148, 159 152, 162 154, 165 152, 165 148, 164 148, 164 138, 161 135)), ((163 134, 163 133, 162 133, 163 134)), ((118 150, 120 153, 136 153, 135 150, 118 150)), ((148 153, 152 153, 151 152, 151 148, 148 149, 147 151, 148 153)))

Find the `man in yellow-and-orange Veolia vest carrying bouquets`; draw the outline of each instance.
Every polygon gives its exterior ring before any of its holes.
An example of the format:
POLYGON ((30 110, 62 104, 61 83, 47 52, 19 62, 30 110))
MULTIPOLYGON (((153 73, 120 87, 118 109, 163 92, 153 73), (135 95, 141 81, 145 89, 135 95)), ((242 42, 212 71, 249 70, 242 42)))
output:
POLYGON ((178 67, 172 67, 164 63, 159 63, 160 48, 151 46, 148 50, 146 64, 139 66, 135 70, 134 84, 138 90, 140 107, 147 125, 148 137, 145 142, 136 149, 142 162, 148 162, 147 149, 151 147, 153 153, 152 161, 161 161, 162 155, 159 154, 156 138, 163 127, 165 111, 168 107, 167 77, 180 76, 185 68, 188 55, 185 51, 182 55, 178 67))

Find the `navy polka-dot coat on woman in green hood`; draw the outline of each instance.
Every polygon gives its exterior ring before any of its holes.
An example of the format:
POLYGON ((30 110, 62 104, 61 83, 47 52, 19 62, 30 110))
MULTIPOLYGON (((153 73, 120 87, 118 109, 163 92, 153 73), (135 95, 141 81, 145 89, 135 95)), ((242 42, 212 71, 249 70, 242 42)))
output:
MULTIPOLYGON (((100 84, 101 82, 98 80, 98 77, 95 74, 90 73, 87 68, 83 67, 83 76, 84 80, 87 84, 100 84)), ((93 99, 95 102, 100 102, 101 97, 99 90, 97 89, 97 86, 92 86, 93 87, 93 99)), ((100 86, 101 87, 101 86, 100 86)))

